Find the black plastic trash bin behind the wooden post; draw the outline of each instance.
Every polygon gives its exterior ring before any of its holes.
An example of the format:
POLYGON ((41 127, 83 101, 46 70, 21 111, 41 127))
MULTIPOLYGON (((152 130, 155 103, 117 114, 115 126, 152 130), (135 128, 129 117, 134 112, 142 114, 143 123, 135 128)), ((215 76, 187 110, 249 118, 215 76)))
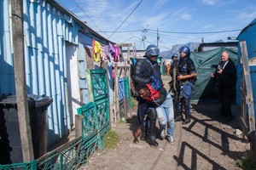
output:
MULTIPOLYGON (((47 152, 47 109, 52 101, 47 96, 27 95, 35 159, 47 152)), ((0 99, 0 164, 23 162, 18 114, 15 95, 0 99)))

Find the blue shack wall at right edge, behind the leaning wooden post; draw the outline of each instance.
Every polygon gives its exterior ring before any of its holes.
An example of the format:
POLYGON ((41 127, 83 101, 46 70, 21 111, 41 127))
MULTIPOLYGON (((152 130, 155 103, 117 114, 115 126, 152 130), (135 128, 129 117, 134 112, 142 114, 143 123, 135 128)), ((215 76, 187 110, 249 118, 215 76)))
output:
MULTIPOLYGON (((247 43, 247 53, 248 58, 251 59, 256 56, 256 19, 247 26, 243 31, 241 31, 238 36, 239 42, 241 39, 245 40, 247 43)), ((236 82, 236 104, 241 105, 241 48, 238 48, 238 59, 237 59, 237 82, 236 82)), ((254 113, 256 113, 256 66, 250 66, 251 80, 253 87, 253 103, 254 103, 254 113)), ((255 114, 256 119, 256 114, 255 114)))

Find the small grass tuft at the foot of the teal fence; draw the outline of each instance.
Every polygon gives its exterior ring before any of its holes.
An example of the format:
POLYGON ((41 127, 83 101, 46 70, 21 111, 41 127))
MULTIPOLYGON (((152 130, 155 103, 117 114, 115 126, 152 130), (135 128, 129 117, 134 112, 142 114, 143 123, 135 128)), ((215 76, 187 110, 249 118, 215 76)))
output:
POLYGON ((105 149, 113 149, 119 144, 119 135, 113 130, 108 131, 104 139, 105 149))

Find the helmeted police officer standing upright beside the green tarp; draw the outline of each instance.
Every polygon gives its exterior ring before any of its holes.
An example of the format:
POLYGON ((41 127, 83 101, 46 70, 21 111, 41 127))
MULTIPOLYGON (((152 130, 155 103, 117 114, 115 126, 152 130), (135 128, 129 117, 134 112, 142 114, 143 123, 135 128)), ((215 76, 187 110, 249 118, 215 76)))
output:
POLYGON ((190 49, 187 46, 183 46, 179 49, 180 59, 178 63, 178 76, 177 80, 180 82, 182 93, 180 93, 180 99, 184 107, 183 124, 190 122, 190 99, 192 94, 192 86, 196 80, 195 65, 192 59, 190 59, 190 49))

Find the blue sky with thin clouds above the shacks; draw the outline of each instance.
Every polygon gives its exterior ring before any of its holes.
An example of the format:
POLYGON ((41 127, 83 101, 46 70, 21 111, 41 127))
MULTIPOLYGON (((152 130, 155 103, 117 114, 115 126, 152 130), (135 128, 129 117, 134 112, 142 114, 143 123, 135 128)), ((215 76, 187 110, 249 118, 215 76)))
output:
POLYGON ((204 42, 219 39, 228 41, 227 37, 237 37, 240 33, 233 30, 243 29, 256 18, 255 0, 55 1, 76 14, 80 20, 86 21, 90 28, 103 37, 117 43, 133 43, 137 49, 156 44, 159 29, 160 51, 171 49, 175 44, 201 42, 202 37, 204 42), (140 5, 137 7, 138 3, 140 5), (134 12, 131 14, 132 10, 134 12), (125 20, 129 14, 131 16, 125 20), (118 27, 119 30, 113 33, 118 27), (203 33, 214 31, 229 32, 203 33), (145 41, 142 40, 143 36, 146 37, 145 41))

